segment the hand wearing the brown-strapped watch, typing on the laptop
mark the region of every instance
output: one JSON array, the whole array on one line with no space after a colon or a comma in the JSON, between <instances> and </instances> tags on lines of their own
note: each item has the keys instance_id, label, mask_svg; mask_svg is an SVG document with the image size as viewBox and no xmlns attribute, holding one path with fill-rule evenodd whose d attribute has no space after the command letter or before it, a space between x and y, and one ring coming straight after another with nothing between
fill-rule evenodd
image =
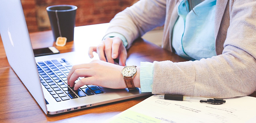
<instances>
[{"instance_id":1,"label":"hand wearing the brown-strapped watch, typing on the laptop","mask_svg":"<svg viewBox=\"0 0 256 123\"><path fill-rule=\"evenodd\" d=\"M103 62L100 60L93 60L88 64L79 64L74 65L72 69L69 71L69 75L67 76L68 85L70 87L74 87L74 90L77 90L79 87L83 85L97 85L101 87L107 87L112 89L125 89L126 84L123 80L123 76L121 71L123 66L119 66L116 64L111 64L108 62ZM137 69L135 87L140 87L139 84L139 76ZM76 84L75 81L78 77L85 77L79 80Z\"/></svg>"}]
</instances>

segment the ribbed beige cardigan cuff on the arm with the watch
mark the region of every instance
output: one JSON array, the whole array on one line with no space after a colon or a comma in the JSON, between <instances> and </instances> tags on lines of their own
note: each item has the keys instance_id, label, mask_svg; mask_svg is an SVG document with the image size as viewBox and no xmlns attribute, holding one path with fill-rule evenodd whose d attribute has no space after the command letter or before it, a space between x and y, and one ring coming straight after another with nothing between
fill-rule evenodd
<instances>
[{"instance_id":1,"label":"ribbed beige cardigan cuff on the arm with the watch","mask_svg":"<svg viewBox=\"0 0 256 123\"><path fill-rule=\"evenodd\" d=\"M154 62L153 94L182 94L192 96L195 73L192 61Z\"/></svg>"}]
</instances>

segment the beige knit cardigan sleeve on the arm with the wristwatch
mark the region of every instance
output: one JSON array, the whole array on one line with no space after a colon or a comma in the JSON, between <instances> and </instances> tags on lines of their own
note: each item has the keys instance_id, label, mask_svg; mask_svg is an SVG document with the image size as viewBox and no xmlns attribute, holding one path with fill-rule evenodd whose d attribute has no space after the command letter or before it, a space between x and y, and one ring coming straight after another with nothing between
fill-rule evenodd
<instances>
[{"instance_id":1,"label":"beige knit cardigan sleeve on the arm with the wristwatch","mask_svg":"<svg viewBox=\"0 0 256 123\"><path fill-rule=\"evenodd\" d=\"M256 91L256 2L236 0L221 55L199 61L154 62L152 93L232 98Z\"/></svg>"}]
</instances>

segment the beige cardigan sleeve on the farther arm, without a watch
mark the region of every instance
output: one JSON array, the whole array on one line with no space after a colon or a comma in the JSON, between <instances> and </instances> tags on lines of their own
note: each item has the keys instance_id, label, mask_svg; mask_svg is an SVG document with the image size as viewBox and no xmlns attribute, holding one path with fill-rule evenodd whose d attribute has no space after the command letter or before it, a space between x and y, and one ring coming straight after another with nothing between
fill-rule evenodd
<instances>
[{"instance_id":1,"label":"beige cardigan sleeve on the farther arm, without a watch","mask_svg":"<svg viewBox=\"0 0 256 123\"><path fill-rule=\"evenodd\" d=\"M122 34L129 48L131 43L155 27L164 25L166 0L140 0L126 8L110 21L106 34Z\"/></svg>"}]
</instances>

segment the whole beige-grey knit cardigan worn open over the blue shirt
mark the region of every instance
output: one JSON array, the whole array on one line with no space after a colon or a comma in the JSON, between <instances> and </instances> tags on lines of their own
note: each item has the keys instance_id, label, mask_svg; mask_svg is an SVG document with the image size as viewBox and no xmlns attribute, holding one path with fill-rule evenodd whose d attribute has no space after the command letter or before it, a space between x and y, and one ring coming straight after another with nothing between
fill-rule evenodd
<instances>
[{"instance_id":1,"label":"whole beige-grey knit cardigan worn open over the blue shirt","mask_svg":"<svg viewBox=\"0 0 256 123\"><path fill-rule=\"evenodd\" d=\"M164 25L162 48L173 50L171 34L178 19L178 0L140 0L117 14L107 34L118 32L132 42ZM154 62L152 93L231 98L256 91L256 2L217 0L217 56L199 61Z\"/></svg>"}]
</instances>

